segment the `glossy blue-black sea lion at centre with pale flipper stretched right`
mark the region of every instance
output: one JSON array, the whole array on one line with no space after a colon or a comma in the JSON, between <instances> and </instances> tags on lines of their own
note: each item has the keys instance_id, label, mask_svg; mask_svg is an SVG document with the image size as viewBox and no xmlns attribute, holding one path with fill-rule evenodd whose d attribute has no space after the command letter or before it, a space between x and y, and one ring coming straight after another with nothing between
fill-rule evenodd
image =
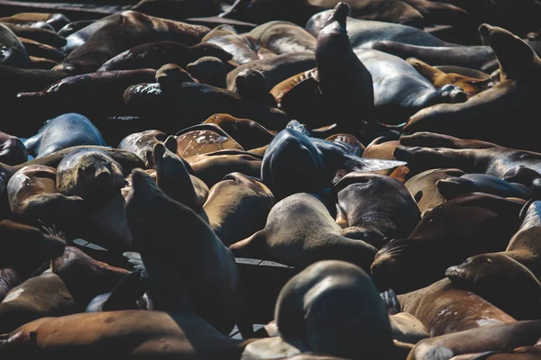
<instances>
[{"instance_id":1,"label":"glossy blue-black sea lion at centre with pale flipper stretched right","mask_svg":"<svg viewBox=\"0 0 541 360\"><path fill-rule=\"evenodd\" d=\"M295 124L298 121L291 121L288 126ZM283 199L292 193L328 193L339 169L375 171L399 165L404 163L357 157L335 142L284 129L265 151L261 180L277 199Z\"/></svg>"}]
</instances>

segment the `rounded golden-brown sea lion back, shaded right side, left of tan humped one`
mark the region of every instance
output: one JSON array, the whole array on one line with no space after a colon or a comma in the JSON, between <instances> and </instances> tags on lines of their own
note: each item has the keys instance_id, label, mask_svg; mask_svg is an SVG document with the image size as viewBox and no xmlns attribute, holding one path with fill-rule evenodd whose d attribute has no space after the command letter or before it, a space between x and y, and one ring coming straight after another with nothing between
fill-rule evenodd
<instances>
[{"instance_id":1,"label":"rounded golden-brown sea lion back, shaded right side, left of tan humped one","mask_svg":"<svg viewBox=\"0 0 541 360\"><path fill-rule=\"evenodd\" d=\"M232 173L210 189L203 210L216 236L229 247L262 229L273 205L274 196L267 186ZM240 223L244 226L238 226Z\"/></svg>"}]
</instances>

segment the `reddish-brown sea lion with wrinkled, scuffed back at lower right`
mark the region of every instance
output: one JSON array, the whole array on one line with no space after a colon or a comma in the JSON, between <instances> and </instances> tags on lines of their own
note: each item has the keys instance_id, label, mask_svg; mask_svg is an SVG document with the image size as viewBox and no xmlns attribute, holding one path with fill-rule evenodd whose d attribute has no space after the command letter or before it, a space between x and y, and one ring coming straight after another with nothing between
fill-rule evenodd
<instances>
[{"instance_id":1,"label":"reddish-brown sea lion with wrinkled, scuffed back at lower right","mask_svg":"<svg viewBox=\"0 0 541 360\"><path fill-rule=\"evenodd\" d=\"M516 321L480 296L455 289L449 279L398 298L402 311L420 320L432 338Z\"/></svg>"}]
</instances>

